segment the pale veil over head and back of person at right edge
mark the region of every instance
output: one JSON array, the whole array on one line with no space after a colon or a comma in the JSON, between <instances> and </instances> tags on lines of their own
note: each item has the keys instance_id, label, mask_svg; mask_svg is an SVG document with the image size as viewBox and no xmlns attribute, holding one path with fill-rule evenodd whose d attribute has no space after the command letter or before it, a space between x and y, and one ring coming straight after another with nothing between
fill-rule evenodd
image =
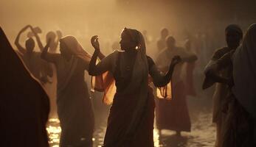
<instances>
[{"instance_id":1,"label":"pale veil over head and back of person at right edge","mask_svg":"<svg viewBox=\"0 0 256 147\"><path fill-rule=\"evenodd\" d=\"M242 46L234 54L232 92L242 106L256 118L256 24L249 26Z\"/></svg>"}]
</instances>

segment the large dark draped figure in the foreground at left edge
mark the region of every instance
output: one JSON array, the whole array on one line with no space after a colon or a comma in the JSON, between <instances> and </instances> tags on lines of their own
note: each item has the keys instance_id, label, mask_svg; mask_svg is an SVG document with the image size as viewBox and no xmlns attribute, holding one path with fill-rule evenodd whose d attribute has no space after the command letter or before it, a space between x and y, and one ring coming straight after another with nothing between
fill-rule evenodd
<instances>
[{"instance_id":1,"label":"large dark draped figure in the foreground at left edge","mask_svg":"<svg viewBox=\"0 0 256 147\"><path fill-rule=\"evenodd\" d=\"M47 147L49 99L0 28L1 146Z\"/></svg>"}]
</instances>

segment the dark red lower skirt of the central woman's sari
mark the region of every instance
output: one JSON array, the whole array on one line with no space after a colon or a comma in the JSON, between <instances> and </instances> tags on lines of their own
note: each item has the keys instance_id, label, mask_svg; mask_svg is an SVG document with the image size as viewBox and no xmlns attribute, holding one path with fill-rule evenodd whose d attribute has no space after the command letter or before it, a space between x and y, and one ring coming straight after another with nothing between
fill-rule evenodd
<instances>
[{"instance_id":1,"label":"dark red lower skirt of the central woman's sari","mask_svg":"<svg viewBox=\"0 0 256 147\"><path fill-rule=\"evenodd\" d=\"M114 96L108 116L108 127L105 133L104 147L153 147L153 119L155 101L153 90L148 87L148 101L145 110L140 118L139 125L134 130L134 134L129 136L125 134L127 127L131 123L132 114L136 107L139 93L131 95Z\"/></svg>"}]
</instances>

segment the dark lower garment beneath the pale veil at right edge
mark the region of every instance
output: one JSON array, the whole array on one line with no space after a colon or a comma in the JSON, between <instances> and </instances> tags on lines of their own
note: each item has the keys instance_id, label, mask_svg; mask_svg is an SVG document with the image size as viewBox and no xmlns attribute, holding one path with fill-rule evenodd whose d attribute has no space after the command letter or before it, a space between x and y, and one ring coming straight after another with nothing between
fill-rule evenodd
<instances>
[{"instance_id":1,"label":"dark lower garment beneath the pale veil at right edge","mask_svg":"<svg viewBox=\"0 0 256 147\"><path fill-rule=\"evenodd\" d=\"M254 121L252 116L242 107L231 93L226 97L229 99L228 110L222 125L221 147L251 147L253 145Z\"/></svg>"}]
</instances>

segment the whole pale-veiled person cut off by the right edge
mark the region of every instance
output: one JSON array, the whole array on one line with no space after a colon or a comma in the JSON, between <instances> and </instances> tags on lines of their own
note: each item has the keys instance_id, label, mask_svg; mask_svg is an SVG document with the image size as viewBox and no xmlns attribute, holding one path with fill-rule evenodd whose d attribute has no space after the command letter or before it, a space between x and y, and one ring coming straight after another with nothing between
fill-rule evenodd
<instances>
[{"instance_id":1,"label":"whole pale-veiled person cut off by the right edge","mask_svg":"<svg viewBox=\"0 0 256 147\"><path fill-rule=\"evenodd\" d=\"M256 24L249 26L232 57L234 99L228 112L223 146L256 146ZM235 133L235 135L233 134ZM228 139L226 139L228 138Z\"/></svg>"}]
</instances>

